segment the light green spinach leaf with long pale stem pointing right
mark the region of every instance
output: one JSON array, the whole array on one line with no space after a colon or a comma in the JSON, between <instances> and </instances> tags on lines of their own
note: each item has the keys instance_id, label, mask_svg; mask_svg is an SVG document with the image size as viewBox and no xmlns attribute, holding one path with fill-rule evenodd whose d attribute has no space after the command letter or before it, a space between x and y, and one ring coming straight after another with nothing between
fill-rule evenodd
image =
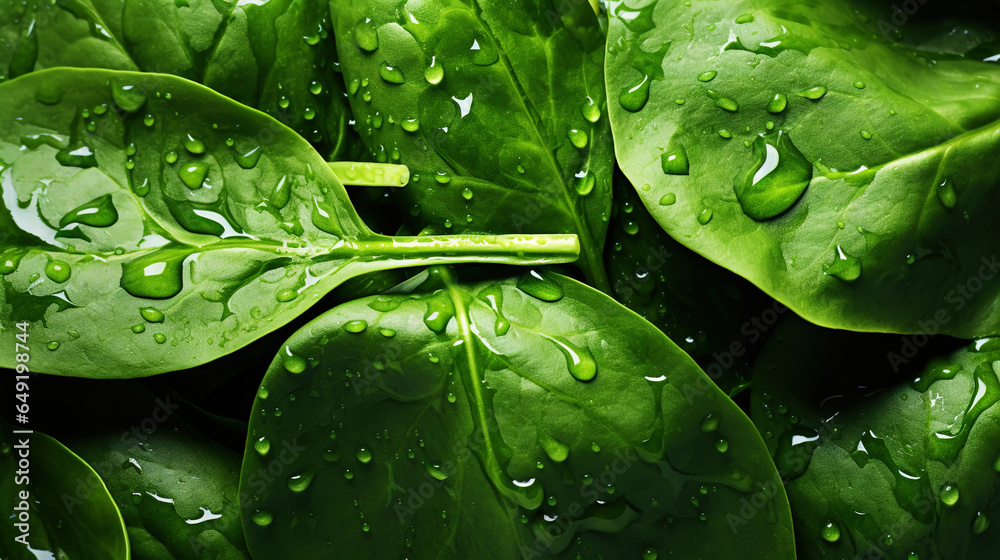
<instances>
[{"instance_id":1,"label":"light green spinach leaf with long pale stem pointing right","mask_svg":"<svg viewBox=\"0 0 1000 560\"><path fill-rule=\"evenodd\" d=\"M578 253L572 235L376 235L301 137L173 76L52 69L0 97L0 340L30 322L34 371L184 369L359 274Z\"/></svg>"}]
</instances>

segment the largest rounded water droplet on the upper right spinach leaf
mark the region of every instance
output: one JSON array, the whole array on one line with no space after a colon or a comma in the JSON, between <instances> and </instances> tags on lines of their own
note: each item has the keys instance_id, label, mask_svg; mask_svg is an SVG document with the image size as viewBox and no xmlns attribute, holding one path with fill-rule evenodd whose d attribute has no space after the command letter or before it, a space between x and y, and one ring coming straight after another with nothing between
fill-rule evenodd
<instances>
[{"instance_id":1,"label":"largest rounded water droplet on the upper right spinach leaf","mask_svg":"<svg viewBox=\"0 0 1000 560\"><path fill-rule=\"evenodd\" d=\"M734 180L743 213L757 221L786 212L802 197L812 180L812 164L784 132L758 136L754 163Z\"/></svg>"}]
</instances>

